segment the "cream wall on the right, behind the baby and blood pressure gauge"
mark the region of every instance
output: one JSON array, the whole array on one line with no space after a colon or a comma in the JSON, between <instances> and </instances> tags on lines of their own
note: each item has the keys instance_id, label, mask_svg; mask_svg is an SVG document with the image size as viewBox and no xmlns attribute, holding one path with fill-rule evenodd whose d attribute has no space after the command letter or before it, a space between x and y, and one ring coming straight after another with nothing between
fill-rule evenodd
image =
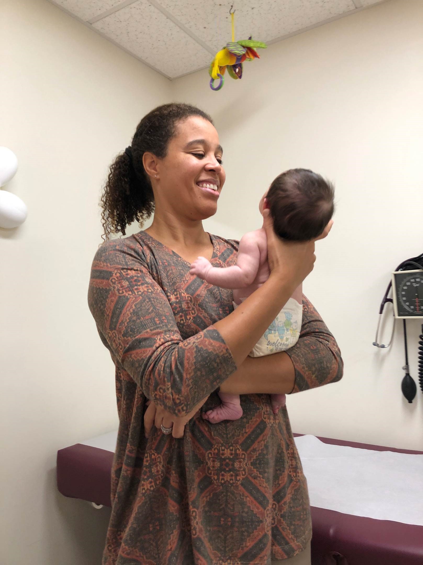
<instances>
[{"instance_id":1,"label":"cream wall on the right, behind the baby and blood pressure gauge","mask_svg":"<svg viewBox=\"0 0 423 565\"><path fill-rule=\"evenodd\" d=\"M176 99L214 117L224 147L209 231L259 227L259 197L287 168L336 184L334 228L305 292L341 346L345 376L288 398L296 432L423 449L423 396L410 405L400 390L401 323L391 351L372 346L390 271L423 251L422 24L421 0L393 0L261 50L219 92L206 71L174 83ZM408 323L415 381L420 332Z\"/></svg>"}]
</instances>

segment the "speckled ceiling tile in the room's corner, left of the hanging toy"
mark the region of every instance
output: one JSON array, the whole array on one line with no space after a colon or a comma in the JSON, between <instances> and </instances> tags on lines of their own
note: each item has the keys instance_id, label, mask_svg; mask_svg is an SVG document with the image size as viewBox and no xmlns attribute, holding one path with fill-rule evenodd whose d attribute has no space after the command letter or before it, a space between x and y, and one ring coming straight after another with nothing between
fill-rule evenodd
<instances>
[{"instance_id":1,"label":"speckled ceiling tile in the room's corner, left of the hanging toy","mask_svg":"<svg viewBox=\"0 0 423 565\"><path fill-rule=\"evenodd\" d=\"M208 66L213 59L147 0L139 0L92 25L170 78Z\"/></svg>"}]
</instances>

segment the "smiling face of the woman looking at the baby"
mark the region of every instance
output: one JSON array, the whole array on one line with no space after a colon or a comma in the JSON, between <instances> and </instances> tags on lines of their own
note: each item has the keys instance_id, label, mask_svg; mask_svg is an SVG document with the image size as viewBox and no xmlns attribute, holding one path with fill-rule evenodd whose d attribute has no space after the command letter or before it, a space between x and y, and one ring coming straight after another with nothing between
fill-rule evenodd
<instances>
[{"instance_id":1,"label":"smiling face of the woman looking at the baby","mask_svg":"<svg viewBox=\"0 0 423 565\"><path fill-rule=\"evenodd\" d=\"M156 208L191 220L213 216L225 181L219 136L208 120L191 116L177 124L166 157L157 160Z\"/></svg>"}]
</instances>

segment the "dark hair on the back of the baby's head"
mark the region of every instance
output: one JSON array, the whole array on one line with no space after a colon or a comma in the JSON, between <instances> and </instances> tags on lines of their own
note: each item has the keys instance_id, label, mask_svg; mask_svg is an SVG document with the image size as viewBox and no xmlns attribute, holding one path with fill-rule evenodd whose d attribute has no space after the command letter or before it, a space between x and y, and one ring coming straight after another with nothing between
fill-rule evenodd
<instances>
[{"instance_id":1,"label":"dark hair on the back of the baby's head","mask_svg":"<svg viewBox=\"0 0 423 565\"><path fill-rule=\"evenodd\" d=\"M270 185L266 200L275 233L290 241L308 241L323 233L334 212L331 182L309 169L285 171Z\"/></svg>"}]
</instances>

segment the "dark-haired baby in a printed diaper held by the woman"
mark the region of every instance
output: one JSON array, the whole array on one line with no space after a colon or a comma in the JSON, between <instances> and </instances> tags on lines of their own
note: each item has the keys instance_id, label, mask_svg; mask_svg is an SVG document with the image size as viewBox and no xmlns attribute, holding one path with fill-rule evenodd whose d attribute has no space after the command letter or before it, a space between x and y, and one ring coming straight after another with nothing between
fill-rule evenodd
<instances>
[{"instance_id":1,"label":"dark-haired baby in a printed diaper held by the woman","mask_svg":"<svg viewBox=\"0 0 423 565\"><path fill-rule=\"evenodd\" d=\"M319 237L334 212L334 189L330 182L309 169L290 169L276 177L259 202L260 213L270 208L277 236L290 241ZM204 257L191 264L190 273L215 286L233 289L236 308L261 286L270 275L267 263L265 228L246 233L239 243L236 266L212 267ZM260 338L250 357L285 351L298 341L302 320L302 285L294 291L283 309ZM215 424L236 420L243 415L237 394L219 392L222 404L203 414ZM285 406L285 394L271 394L272 411Z\"/></svg>"}]
</instances>

